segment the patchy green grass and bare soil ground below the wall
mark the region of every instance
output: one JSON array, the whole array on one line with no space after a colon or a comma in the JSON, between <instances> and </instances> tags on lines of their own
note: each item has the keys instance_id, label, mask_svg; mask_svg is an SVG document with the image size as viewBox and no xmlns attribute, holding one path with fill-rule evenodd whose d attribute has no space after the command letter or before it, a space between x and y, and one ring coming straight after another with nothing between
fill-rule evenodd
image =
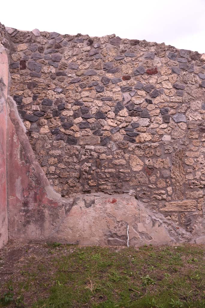
<instances>
[{"instance_id":1,"label":"patchy green grass and bare soil ground below the wall","mask_svg":"<svg viewBox=\"0 0 205 308\"><path fill-rule=\"evenodd\" d=\"M10 265L14 274L0 282L0 305L205 308L204 248L27 245L21 248L19 260ZM2 251L6 252L6 248ZM0 256L6 266L2 251ZM6 296L10 298L7 302Z\"/></svg>"}]
</instances>

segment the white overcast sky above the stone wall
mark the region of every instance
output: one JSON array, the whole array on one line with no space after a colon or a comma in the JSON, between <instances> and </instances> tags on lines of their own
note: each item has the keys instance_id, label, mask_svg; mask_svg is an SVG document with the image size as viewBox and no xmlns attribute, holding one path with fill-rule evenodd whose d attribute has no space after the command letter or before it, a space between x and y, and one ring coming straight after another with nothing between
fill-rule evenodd
<instances>
[{"instance_id":1,"label":"white overcast sky above the stone wall","mask_svg":"<svg viewBox=\"0 0 205 308\"><path fill-rule=\"evenodd\" d=\"M2 0L0 22L19 30L164 42L205 53L205 0Z\"/></svg>"}]
</instances>

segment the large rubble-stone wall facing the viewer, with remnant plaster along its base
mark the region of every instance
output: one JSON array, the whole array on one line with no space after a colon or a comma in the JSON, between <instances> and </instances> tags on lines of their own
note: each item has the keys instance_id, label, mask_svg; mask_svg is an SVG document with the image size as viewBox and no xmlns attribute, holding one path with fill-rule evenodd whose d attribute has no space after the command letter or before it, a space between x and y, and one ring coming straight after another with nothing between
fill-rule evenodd
<instances>
[{"instance_id":1,"label":"large rubble-stone wall facing the viewer, with remnant plaster along its base","mask_svg":"<svg viewBox=\"0 0 205 308\"><path fill-rule=\"evenodd\" d=\"M125 245L129 222L133 245L204 241L205 55L6 30L10 238Z\"/></svg>"}]
</instances>

